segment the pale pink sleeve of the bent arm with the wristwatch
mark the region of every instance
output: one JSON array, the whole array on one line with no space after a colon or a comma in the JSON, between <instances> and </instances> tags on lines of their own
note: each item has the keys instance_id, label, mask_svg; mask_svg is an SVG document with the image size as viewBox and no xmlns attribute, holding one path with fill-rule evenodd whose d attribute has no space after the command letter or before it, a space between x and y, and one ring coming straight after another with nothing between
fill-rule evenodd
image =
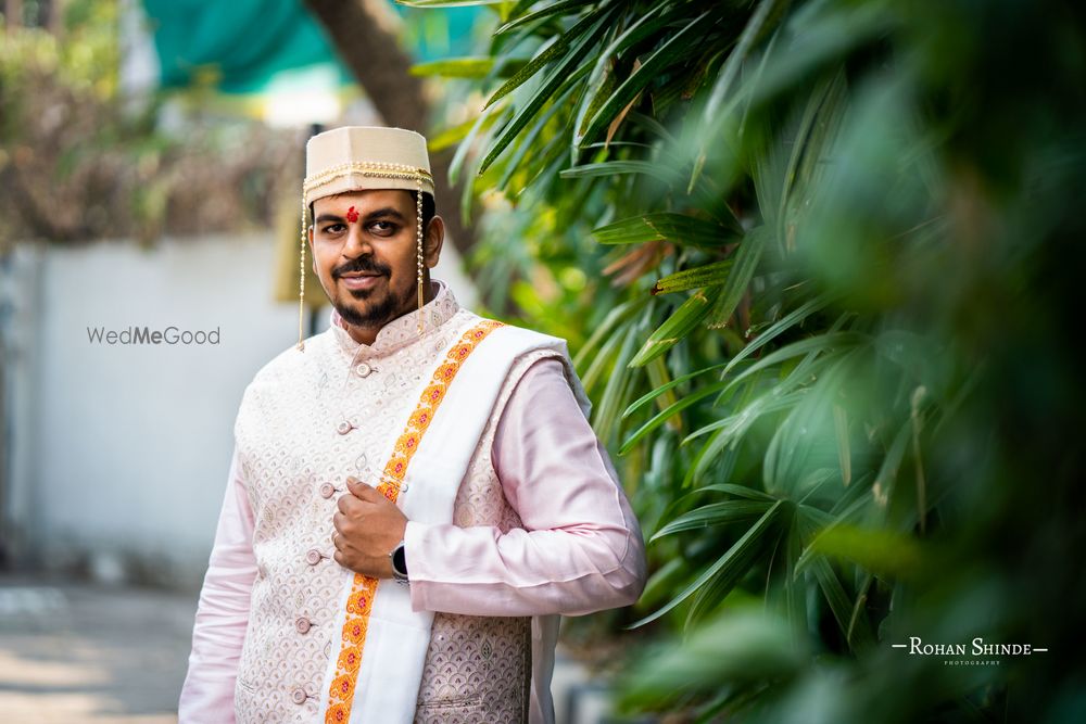
<instances>
[{"instance_id":1,"label":"pale pink sleeve of the bent arm with the wristwatch","mask_svg":"<svg viewBox=\"0 0 1086 724\"><path fill-rule=\"evenodd\" d=\"M408 522L413 608L576 615L635 601L645 585L641 530L559 359L534 363L517 382L492 455L525 529Z\"/></svg>"}]
</instances>

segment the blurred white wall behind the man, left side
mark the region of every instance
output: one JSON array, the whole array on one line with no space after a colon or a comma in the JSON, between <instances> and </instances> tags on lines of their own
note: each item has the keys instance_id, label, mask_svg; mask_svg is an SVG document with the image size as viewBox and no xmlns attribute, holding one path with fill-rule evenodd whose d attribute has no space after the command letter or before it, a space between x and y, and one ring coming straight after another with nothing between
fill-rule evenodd
<instances>
[{"instance_id":1,"label":"blurred white wall behind the man, left side","mask_svg":"<svg viewBox=\"0 0 1086 724\"><path fill-rule=\"evenodd\" d=\"M475 294L451 244L434 276ZM245 385L296 340L269 237L17 251L3 279L12 459L2 537L101 579L203 575ZM327 307L321 314L327 326ZM218 328L218 345L109 345L88 327Z\"/></svg>"}]
</instances>

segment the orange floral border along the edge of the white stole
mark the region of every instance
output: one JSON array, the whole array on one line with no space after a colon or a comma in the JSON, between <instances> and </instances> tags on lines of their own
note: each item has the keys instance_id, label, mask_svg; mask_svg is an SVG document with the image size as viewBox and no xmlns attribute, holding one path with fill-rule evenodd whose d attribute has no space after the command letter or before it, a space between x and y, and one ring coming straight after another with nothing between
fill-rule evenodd
<instances>
[{"instance_id":1,"label":"orange floral border along the edge of the white stole","mask_svg":"<svg viewBox=\"0 0 1086 724\"><path fill-rule=\"evenodd\" d=\"M459 342L453 345L445 360L433 372L433 379L422 391L422 395L407 419L407 427L396 440L392 457L384 466L384 474L377 490L393 503L400 496L400 485L407 472L419 441L430 427L438 406L445 398L445 392L460 365L468 358L476 346L503 322L487 319L464 333ZM345 724L351 719L351 706L354 701L354 687L358 679L358 669L362 665L363 646L366 643L366 630L369 624L369 613L374 607L374 596L377 595L378 579L354 574L351 594L346 599L346 621L343 624L343 638L339 658L336 662L336 675L328 690L327 724Z\"/></svg>"}]
</instances>

